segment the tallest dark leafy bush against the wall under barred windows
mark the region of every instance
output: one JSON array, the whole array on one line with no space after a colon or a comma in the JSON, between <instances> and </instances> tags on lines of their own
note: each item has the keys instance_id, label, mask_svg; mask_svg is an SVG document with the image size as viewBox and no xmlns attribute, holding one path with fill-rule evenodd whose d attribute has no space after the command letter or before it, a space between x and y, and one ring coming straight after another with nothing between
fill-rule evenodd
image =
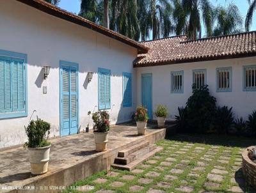
<instances>
[{"instance_id":1,"label":"tallest dark leafy bush against the wall under barred windows","mask_svg":"<svg viewBox=\"0 0 256 193\"><path fill-rule=\"evenodd\" d=\"M214 120L216 98L211 96L207 85L195 89L186 103L186 130L188 132L205 133ZM189 127L189 128L188 128Z\"/></svg>"}]
</instances>

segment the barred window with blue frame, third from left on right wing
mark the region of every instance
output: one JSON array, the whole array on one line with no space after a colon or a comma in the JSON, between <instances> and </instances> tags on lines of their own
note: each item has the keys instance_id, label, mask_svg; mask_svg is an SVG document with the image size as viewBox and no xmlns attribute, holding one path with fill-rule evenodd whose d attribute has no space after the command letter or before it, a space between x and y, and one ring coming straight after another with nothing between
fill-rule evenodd
<instances>
[{"instance_id":1,"label":"barred window with blue frame, third from left on right wing","mask_svg":"<svg viewBox=\"0 0 256 193\"><path fill-rule=\"evenodd\" d=\"M218 92L232 91L232 67L216 69L216 87Z\"/></svg>"}]
</instances>

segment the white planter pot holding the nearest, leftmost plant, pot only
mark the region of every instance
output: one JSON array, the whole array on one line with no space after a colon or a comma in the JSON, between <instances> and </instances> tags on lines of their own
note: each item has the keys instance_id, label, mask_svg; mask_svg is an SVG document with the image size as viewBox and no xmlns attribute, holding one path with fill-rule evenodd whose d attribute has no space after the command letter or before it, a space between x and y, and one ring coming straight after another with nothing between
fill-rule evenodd
<instances>
[{"instance_id":1,"label":"white planter pot holding the nearest, leftmost plant, pot only","mask_svg":"<svg viewBox=\"0 0 256 193\"><path fill-rule=\"evenodd\" d=\"M31 173L35 175L47 173L51 145L43 148L28 148Z\"/></svg>"}]
</instances>

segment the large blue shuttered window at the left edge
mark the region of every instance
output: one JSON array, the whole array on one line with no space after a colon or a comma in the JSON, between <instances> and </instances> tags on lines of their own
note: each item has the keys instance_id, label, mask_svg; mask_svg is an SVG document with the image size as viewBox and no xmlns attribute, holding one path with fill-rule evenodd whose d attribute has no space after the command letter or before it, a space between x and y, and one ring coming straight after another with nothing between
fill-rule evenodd
<instances>
[{"instance_id":1,"label":"large blue shuttered window at the left edge","mask_svg":"<svg viewBox=\"0 0 256 193\"><path fill-rule=\"evenodd\" d=\"M0 50L0 118L27 116L26 58Z\"/></svg>"}]
</instances>

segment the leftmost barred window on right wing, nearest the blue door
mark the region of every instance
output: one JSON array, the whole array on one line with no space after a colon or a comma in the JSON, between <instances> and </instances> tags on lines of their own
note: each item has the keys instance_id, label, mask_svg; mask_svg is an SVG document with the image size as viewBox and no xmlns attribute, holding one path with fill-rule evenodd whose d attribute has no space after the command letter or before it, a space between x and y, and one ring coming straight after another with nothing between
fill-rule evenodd
<instances>
[{"instance_id":1,"label":"leftmost barred window on right wing, nearest the blue door","mask_svg":"<svg viewBox=\"0 0 256 193\"><path fill-rule=\"evenodd\" d=\"M171 93L183 93L183 74L183 70L171 72Z\"/></svg>"}]
</instances>

